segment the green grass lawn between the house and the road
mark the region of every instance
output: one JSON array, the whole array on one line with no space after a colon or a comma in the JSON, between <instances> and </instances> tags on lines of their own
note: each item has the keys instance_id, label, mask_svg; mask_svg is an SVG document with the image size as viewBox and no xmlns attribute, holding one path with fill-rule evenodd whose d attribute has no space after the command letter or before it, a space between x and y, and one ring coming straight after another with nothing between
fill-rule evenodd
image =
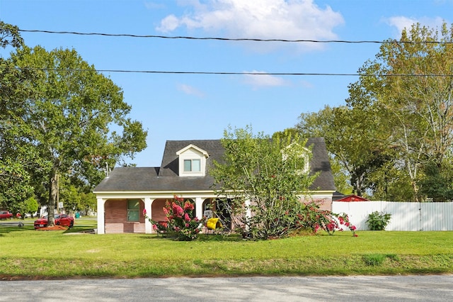
<instances>
[{"instance_id":1,"label":"green grass lawn between the house and the road","mask_svg":"<svg viewBox=\"0 0 453 302\"><path fill-rule=\"evenodd\" d=\"M32 220L33 223L33 220ZM244 275L452 274L453 232L361 231L333 236L244 241L201 235L178 242L149 234L81 233L93 218L67 231L0 226L0 277L166 277Z\"/></svg>"}]
</instances>

